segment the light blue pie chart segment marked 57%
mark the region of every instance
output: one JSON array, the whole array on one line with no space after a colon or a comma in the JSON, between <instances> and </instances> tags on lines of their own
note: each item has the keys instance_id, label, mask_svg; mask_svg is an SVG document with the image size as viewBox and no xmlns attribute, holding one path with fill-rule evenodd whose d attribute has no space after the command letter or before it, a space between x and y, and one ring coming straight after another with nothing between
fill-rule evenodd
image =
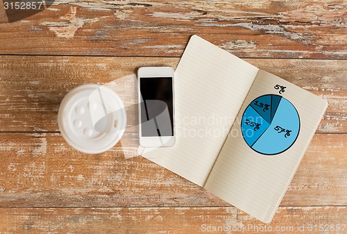
<instances>
[{"instance_id":1,"label":"light blue pie chart segment marked 57%","mask_svg":"<svg viewBox=\"0 0 347 234\"><path fill-rule=\"evenodd\" d=\"M291 131L285 137L286 132L278 133L276 126ZM287 150L295 142L300 128L298 112L287 99L280 99L280 104L273 116L271 125L264 134L253 144L255 151L264 154L276 154Z\"/></svg>"}]
</instances>

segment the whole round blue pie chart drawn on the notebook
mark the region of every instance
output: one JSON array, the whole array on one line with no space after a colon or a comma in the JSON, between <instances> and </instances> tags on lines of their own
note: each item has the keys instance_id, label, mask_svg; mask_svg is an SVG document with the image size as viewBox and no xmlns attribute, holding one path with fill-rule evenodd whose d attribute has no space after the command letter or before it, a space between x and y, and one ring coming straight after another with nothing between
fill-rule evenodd
<instances>
[{"instance_id":1,"label":"whole round blue pie chart drawn on the notebook","mask_svg":"<svg viewBox=\"0 0 347 234\"><path fill-rule=\"evenodd\" d=\"M298 111L276 94L257 97L242 115L242 136L257 153L276 155L289 149L300 131Z\"/></svg>"}]
</instances>

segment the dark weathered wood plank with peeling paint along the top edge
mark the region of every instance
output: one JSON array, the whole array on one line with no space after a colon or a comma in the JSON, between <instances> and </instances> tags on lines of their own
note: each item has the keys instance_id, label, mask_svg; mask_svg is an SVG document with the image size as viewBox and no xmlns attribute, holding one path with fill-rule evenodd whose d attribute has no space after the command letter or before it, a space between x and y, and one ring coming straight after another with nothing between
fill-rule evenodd
<instances>
[{"instance_id":1,"label":"dark weathered wood plank with peeling paint along the top edge","mask_svg":"<svg viewBox=\"0 0 347 234\"><path fill-rule=\"evenodd\" d=\"M0 24L0 54L180 56L197 33L237 56L347 58L346 12L342 0L58 0Z\"/></svg>"}]
</instances>

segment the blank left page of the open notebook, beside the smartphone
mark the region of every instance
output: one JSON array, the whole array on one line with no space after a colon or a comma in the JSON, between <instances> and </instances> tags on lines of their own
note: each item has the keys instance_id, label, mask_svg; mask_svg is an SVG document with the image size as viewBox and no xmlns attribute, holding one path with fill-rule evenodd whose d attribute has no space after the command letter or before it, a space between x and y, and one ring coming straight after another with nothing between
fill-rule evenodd
<instances>
[{"instance_id":1,"label":"blank left page of the open notebook, beside the smartphone","mask_svg":"<svg viewBox=\"0 0 347 234\"><path fill-rule=\"evenodd\" d=\"M258 71L193 35L174 78L176 144L142 156L202 186Z\"/></svg>"}]
</instances>

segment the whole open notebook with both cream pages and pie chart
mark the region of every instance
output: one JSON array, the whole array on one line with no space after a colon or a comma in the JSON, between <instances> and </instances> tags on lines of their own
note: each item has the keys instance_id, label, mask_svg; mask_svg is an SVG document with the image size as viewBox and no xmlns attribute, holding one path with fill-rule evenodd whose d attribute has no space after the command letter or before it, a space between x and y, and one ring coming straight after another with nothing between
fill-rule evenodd
<instances>
[{"instance_id":1,"label":"whole open notebook with both cream pages and pie chart","mask_svg":"<svg viewBox=\"0 0 347 234\"><path fill-rule=\"evenodd\" d=\"M271 222L327 102L196 35L175 98L176 144L142 156Z\"/></svg>"}]
</instances>

